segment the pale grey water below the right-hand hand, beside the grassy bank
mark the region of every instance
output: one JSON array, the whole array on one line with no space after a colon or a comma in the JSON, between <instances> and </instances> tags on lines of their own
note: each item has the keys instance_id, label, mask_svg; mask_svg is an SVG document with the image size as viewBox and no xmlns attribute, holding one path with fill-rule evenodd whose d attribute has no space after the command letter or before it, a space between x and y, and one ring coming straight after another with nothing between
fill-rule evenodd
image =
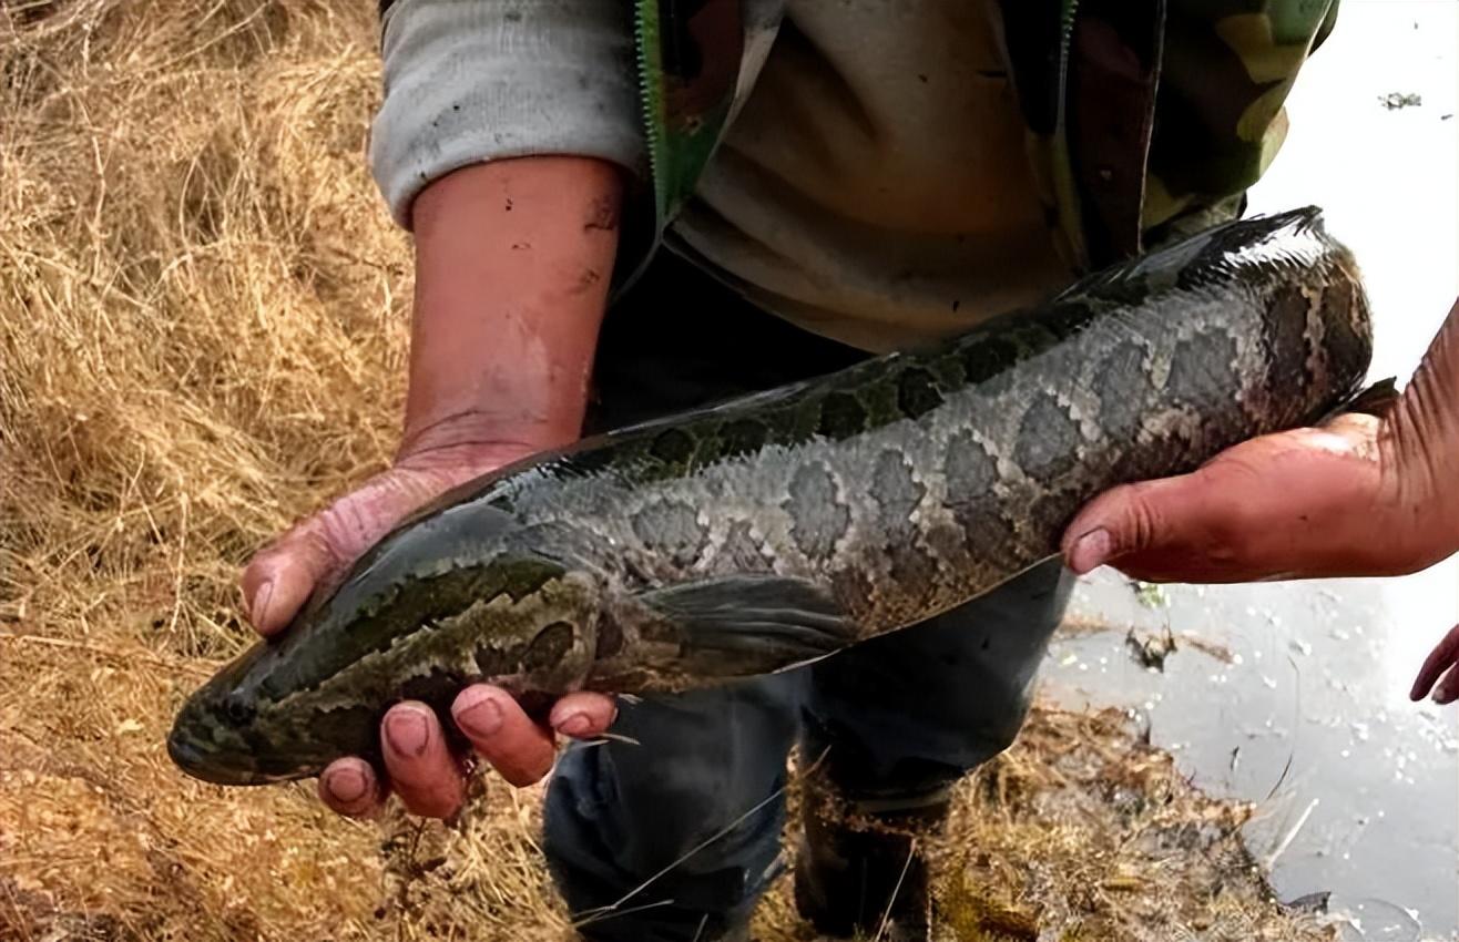
<instances>
[{"instance_id":1,"label":"pale grey water below the right-hand hand, beside the grassy bank","mask_svg":"<svg viewBox=\"0 0 1459 942\"><path fill-rule=\"evenodd\" d=\"M1164 586L1154 607L1100 573L1075 611L1119 627L1056 642L1045 682L1065 706L1129 707L1196 786L1258 802L1247 846L1282 900L1331 892L1364 917L1354 939L1455 939L1459 710L1406 691L1436 626L1459 621L1456 569ZM1172 631L1163 672L1132 656L1131 626Z\"/></svg>"}]
</instances>

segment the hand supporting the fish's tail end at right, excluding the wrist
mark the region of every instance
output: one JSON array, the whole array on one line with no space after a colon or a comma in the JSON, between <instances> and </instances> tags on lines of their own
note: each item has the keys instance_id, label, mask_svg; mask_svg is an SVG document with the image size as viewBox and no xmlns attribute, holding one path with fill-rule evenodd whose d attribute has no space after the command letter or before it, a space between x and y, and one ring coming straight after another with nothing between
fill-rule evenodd
<instances>
[{"instance_id":1,"label":"hand supporting the fish's tail end at right, excluding the wrist","mask_svg":"<svg viewBox=\"0 0 1459 942\"><path fill-rule=\"evenodd\" d=\"M1109 564L1145 582L1261 582L1415 572L1443 558L1377 445L1379 420L1341 416L1269 435L1199 470L1112 488L1065 531L1084 575Z\"/></svg>"}]
</instances>

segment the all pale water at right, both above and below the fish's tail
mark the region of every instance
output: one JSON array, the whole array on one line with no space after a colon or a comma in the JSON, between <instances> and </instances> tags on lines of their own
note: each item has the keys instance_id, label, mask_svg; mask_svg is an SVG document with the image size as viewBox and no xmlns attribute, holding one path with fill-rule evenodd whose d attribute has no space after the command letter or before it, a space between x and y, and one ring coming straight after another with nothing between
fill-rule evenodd
<instances>
[{"instance_id":1,"label":"all pale water at right, both above and below the fish's tail","mask_svg":"<svg viewBox=\"0 0 1459 942\"><path fill-rule=\"evenodd\" d=\"M1459 296L1459 4L1341 9L1293 92L1290 136L1252 210L1325 209L1369 284L1371 378L1406 382ZM1390 93L1421 104L1388 108ZM1046 691L1067 706L1129 707L1198 786L1258 802L1246 838L1272 860L1275 890L1288 901L1331 892L1347 938L1459 939L1459 704L1408 700L1428 649L1459 621L1459 557L1402 579L1163 595L1141 601L1107 570L1087 579L1075 614L1116 627L1059 640ZM1129 626L1172 628L1164 672L1131 656Z\"/></svg>"}]
</instances>

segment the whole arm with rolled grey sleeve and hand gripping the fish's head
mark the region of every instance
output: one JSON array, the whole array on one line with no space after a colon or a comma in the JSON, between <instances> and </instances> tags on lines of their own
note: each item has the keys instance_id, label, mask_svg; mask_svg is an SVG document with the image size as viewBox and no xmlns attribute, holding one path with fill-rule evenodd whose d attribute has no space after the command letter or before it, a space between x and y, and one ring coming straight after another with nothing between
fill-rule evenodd
<instances>
[{"instance_id":1,"label":"whole arm with rolled grey sleeve and hand gripping the fish's head","mask_svg":"<svg viewBox=\"0 0 1459 942\"><path fill-rule=\"evenodd\" d=\"M629 4L387 6L369 156L391 216L416 236L404 432L391 470L249 563L245 598L266 634L414 507L578 437L623 184L645 163ZM550 768L554 732L603 732L613 701L565 697L549 728L505 691L474 685L452 719L508 782L527 785ZM384 770L347 758L324 771L331 808L371 814L382 771L416 814L460 806L458 760L432 710L391 709L381 745Z\"/></svg>"}]
</instances>

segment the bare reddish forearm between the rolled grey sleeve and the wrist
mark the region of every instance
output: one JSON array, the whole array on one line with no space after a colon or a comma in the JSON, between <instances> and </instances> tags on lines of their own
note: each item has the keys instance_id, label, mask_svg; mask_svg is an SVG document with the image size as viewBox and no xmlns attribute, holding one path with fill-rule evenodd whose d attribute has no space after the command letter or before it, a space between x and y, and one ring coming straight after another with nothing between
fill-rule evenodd
<instances>
[{"instance_id":1,"label":"bare reddish forearm between the rolled grey sleeve and the wrist","mask_svg":"<svg viewBox=\"0 0 1459 942\"><path fill-rule=\"evenodd\" d=\"M416 197L401 454L578 436L620 200L614 165L547 156L468 166Z\"/></svg>"}]
</instances>

